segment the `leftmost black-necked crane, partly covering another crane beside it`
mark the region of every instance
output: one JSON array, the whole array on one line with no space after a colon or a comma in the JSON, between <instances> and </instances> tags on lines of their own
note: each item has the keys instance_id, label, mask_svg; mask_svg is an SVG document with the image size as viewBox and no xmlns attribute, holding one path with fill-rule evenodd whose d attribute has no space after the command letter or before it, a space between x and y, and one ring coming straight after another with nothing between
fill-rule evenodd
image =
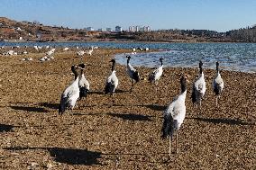
<instances>
[{"instance_id":1,"label":"leftmost black-necked crane, partly covering another crane beside it","mask_svg":"<svg viewBox=\"0 0 256 170\"><path fill-rule=\"evenodd\" d=\"M61 94L59 102L59 115L62 115L67 109L73 110L79 97L79 77L77 66L71 67L72 72L75 74L75 81L69 85L64 92Z\"/></svg>"}]
</instances>

